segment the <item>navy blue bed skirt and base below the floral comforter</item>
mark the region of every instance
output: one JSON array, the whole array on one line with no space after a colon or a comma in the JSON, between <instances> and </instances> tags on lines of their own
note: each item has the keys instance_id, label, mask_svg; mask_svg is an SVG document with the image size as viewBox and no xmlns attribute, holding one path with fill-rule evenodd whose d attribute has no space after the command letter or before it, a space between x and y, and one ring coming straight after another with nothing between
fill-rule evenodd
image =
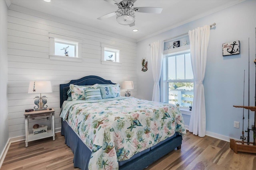
<instances>
[{"instance_id":1,"label":"navy blue bed skirt and base below the floral comforter","mask_svg":"<svg viewBox=\"0 0 256 170\"><path fill-rule=\"evenodd\" d=\"M74 167L88 170L91 151L83 141L72 130L66 121L62 121L61 135L65 136L65 143L74 153ZM182 136L175 133L174 136L158 143L157 145L135 154L129 160L119 163L119 170L143 170L162 156L168 154L175 148L180 148Z\"/></svg>"}]
</instances>

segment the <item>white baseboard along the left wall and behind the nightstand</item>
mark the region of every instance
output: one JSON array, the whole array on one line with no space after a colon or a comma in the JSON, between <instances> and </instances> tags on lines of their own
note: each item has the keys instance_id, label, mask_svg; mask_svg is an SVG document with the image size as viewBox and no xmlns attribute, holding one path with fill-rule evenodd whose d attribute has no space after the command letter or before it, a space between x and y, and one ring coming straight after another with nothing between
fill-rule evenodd
<instances>
[{"instance_id":1,"label":"white baseboard along the left wall and behind the nightstand","mask_svg":"<svg viewBox=\"0 0 256 170\"><path fill-rule=\"evenodd\" d=\"M55 129L55 133L58 133L60 131L61 131L61 127ZM19 136L19 137L13 137L13 138L9 138L8 139L6 145L4 146L4 150L3 150L3 152L0 155L0 169L1 169L1 166L2 166L2 164L4 162L4 158L5 158L8 150L9 150L9 147L10 147L11 143L18 142L18 141L23 141L25 139L26 139L26 136ZM24 145L24 147L25 147L25 145Z\"/></svg>"}]
</instances>

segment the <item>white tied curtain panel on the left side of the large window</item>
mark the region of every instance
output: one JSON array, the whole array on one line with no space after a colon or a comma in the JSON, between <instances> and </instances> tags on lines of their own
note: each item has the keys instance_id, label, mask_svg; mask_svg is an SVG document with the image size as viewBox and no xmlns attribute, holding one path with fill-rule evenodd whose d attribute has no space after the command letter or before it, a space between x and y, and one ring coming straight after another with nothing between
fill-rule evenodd
<instances>
[{"instance_id":1,"label":"white tied curtain panel on the left side of the large window","mask_svg":"<svg viewBox=\"0 0 256 170\"><path fill-rule=\"evenodd\" d=\"M151 43L151 59L152 59L152 72L154 79L154 89L152 101L160 102L160 87L159 80L162 70L162 60L164 52L164 41L156 41Z\"/></svg>"}]
</instances>

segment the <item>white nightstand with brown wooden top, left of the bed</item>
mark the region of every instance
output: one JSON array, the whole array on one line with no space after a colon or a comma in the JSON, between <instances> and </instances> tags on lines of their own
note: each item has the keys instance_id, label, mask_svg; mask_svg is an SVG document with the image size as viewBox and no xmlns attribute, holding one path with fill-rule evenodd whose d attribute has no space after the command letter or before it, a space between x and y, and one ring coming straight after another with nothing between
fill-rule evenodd
<instances>
[{"instance_id":1,"label":"white nightstand with brown wooden top, left of the bed","mask_svg":"<svg viewBox=\"0 0 256 170\"><path fill-rule=\"evenodd\" d=\"M43 139L46 137L52 137L53 141L55 141L55 132L54 132L54 112L55 110L52 108L50 109L46 109L46 110L40 110L40 111L30 111L30 112L25 112L24 116L25 116L25 131L26 131L26 147L28 147L28 142L30 141L35 141L38 139ZM36 132L36 133L31 133L29 134L28 131L28 119L32 119L32 118L38 118L38 117L51 117L51 129L47 129L45 131L45 129L42 129L42 127L38 128L40 130L42 130L42 133L40 133L40 131ZM34 129L33 129L34 130Z\"/></svg>"}]
</instances>

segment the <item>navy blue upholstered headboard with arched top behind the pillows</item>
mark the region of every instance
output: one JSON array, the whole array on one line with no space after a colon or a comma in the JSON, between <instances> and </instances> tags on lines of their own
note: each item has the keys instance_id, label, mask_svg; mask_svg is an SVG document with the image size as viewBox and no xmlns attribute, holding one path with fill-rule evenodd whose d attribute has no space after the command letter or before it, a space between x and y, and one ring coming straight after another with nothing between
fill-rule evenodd
<instances>
[{"instance_id":1,"label":"navy blue upholstered headboard with arched top behind the pillows","mask_svg":"<svg viewBox=\"0 0 256 170\"><path fill-rule=\"evenodd\" d=\"M110 80L105 80L104 78L101 78L99 76L85 76L78 80L71 80L67 84L60 84L60 107L62 106L63 102L68 99L67 92L69 90L70 84L84 86L84 85L94 85L97 83L98 84L115 84Z\"/></svg>"}]
</instances>

